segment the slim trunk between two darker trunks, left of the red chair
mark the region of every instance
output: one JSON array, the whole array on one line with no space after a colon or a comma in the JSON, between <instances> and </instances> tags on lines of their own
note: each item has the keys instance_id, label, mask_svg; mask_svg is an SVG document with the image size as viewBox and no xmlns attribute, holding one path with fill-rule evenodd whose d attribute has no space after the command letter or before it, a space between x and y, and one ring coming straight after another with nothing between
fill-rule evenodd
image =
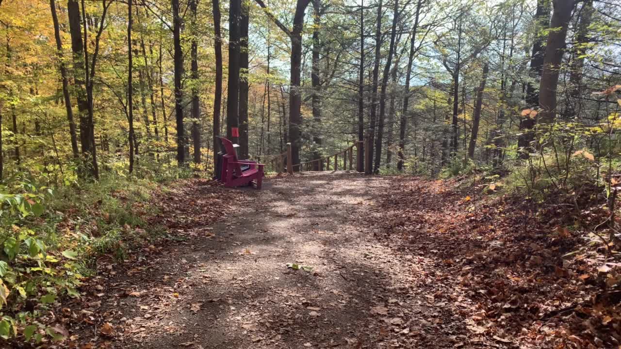
<instances>
[{"instance_id":1,"label":"slim trunk between two darker trunks, left of the red chair","mask_svg":"<svg viewBox=\"0 0 621 349\"><path fill-rule=\"evenodd\" d=\"M197 43L197 9L198 9L198 0L190 1L190 11L193 21L193 33L192 33L192 48L191 48L191 57L192 57L192 140L194 143L194 163L201 163L201 124L199 120L201 119L201 104L199 102L198 97L198 84L199 84L199 76L198 76L198 43Z\"/></svg>"}]
</instances>

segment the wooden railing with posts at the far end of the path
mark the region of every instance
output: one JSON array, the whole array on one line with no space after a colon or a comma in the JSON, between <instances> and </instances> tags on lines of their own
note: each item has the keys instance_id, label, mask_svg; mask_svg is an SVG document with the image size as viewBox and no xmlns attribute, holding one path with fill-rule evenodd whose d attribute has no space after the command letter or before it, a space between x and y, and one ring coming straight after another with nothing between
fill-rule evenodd
<instances>
[{"instance_id":1,"label":"wooden railing with posts at the far end of the path","mask_svg":"<svg viewBox=\"0 0 621 349\"><path fill-rule=\"evenodd\" d=\"M368 142L365 140L365 142ZM363 152L363 143L362 141L357 141L350 145L350 147L341 150L338 153L334 153L330 156L325 156L323 158L306 161L303 163L291 163L291 143L287 143L287 151L280 153L271 160L266 160L266 164L272 170L278 173L293 173L293 171L337 171L337 170L353 170L356 168L358 170L358 161L361 161L361 156ZM354 156L354 148L356 155ZM354 158L356 158L356 164L354 164ZM341 160L341 161L339 161ZM368 161L364 161L367 163ZM332 166L331 166L332 165ZM366 168L365 168L366 170Z\"/></svg>"}]
</instances>

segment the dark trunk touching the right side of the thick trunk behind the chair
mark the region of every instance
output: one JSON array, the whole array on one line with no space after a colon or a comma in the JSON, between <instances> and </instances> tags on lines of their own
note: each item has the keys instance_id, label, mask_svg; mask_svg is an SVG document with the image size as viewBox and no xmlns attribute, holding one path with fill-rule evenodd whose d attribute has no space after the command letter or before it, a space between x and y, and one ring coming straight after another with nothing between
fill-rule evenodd
<instances>
[{"instance_id":1,"label":"dark trunk touching the right side of the thick trunk behind the chair","mask_svg":"<svg viewBox=\"0 0 621 349\"><path fill-rule=\"evenodd\" d=\"M240 158L248 158L248 22L250 7L248 1L242 1L240 17L240 48L239 48L239 145Z\"/></svg>"}]
</instances>

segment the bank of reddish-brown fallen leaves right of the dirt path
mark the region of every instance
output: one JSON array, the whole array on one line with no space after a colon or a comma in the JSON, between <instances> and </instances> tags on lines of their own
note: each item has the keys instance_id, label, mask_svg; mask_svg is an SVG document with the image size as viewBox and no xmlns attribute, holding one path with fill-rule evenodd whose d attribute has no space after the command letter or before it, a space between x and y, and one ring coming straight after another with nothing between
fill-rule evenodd
<instances>
[{"instance_id":1,"label":"bank of reddish-brown fallen leaves right of the dirt path","mask_svg":"<svg viewBox=\"0 0 621 349\"><path fill-rule=\"evenodd\" d=\"M573 215L563 204L476 197L457 181L394 180L369 221L425 265L412 269L414 283L461 319L454 347L619 348L621 265L586 228L567 229L604 221L601 208Z\"/></svg>"}]
</instances>

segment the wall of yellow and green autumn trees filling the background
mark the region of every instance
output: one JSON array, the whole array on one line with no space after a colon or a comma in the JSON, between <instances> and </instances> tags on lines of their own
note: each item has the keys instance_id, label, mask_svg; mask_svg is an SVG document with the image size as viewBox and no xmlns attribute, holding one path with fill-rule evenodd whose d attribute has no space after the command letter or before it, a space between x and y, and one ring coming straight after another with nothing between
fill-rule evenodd
<instances>
[{"instance_id":1,"label":"wall of yellow and green autumn trees filling the background","mask_svg":"<svg viewBox=\"0 0 621 349\"><path fill-rule=\"evenodd\" d=\"M537 120L605 151L619 106L614 2L0 6L4 177L210 170L233 128L243 158L291 142L296 164L368 137L375 173L507 168L539 148Z\"/></svg>"}]
</instances>

